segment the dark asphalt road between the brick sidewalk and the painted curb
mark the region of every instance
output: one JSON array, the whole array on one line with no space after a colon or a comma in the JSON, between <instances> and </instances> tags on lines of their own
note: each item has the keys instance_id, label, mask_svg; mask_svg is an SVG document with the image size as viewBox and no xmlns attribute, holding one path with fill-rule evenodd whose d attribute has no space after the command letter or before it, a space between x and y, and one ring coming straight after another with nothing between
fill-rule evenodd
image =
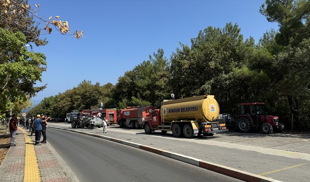
<instances>
[{"instance_id":1,"label":"dark asphalt road between the brick sidewalk and the painted curb","mask_svg":"<svg viewBox=\"0 0 310 182\"><path fill-rule=\"evenodd\" d=\"M144 150L49 128L47 140L81 182L234 182L236 179Z\"/></svg>"}]
</instances>

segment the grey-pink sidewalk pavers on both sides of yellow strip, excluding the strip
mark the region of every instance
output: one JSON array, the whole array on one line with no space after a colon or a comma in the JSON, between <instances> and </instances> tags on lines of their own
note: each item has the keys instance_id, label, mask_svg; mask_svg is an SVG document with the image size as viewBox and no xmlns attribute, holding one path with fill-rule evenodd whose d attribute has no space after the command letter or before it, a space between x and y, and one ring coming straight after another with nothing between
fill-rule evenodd
<instances>
[{"instance_id":1,"label":"grey-pink sidewalk pavers on both sides of yellow strip, excluding the strip","mask_svg":"<svg viewBox=\"0 0 310 182\"><path fill-rule=\"evenodd\" d=\"M30 132L27 132L30 135ZM32 141L35 140L31 136ZM42 139L42 137L41 137ZM25 146L33 145L26 143L24 133L16 132L16 146L11 147L0 166L0 182L23 182L25 168ZM64 163L58 153L48 143L34 146L35 155L40 171L41 182L78 182L74 172Z\"/></svg>"}]
</instances>

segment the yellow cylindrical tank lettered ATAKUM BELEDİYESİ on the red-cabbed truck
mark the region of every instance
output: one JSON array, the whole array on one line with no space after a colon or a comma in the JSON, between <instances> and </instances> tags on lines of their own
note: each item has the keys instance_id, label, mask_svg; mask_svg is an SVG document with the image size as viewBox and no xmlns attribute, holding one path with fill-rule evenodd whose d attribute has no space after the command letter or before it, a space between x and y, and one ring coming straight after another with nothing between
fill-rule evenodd
<instances>
[{"instance_id":1,"label":"yellow cylindrical tank lettered ATAKUM BELED\u0130YES\u0130 on the red-cabbed truck","mask_svg":"<svg viewBox=\"0 0 310 182\"><path fill-rule=\"evenodd\" d=\"M161 106L161 117L165 122L180 120L213 122L218 115L217 100L209 95L163 101Z\"/></svg>"}]
</instances>

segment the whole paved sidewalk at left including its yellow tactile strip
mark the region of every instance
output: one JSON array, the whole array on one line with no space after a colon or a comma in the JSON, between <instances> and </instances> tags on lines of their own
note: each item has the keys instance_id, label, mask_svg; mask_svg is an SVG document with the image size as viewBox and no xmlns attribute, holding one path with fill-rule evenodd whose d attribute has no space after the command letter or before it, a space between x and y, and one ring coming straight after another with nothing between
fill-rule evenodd
<instances>
[{"instance_id":1,"label":"whole paved sidewalk at left including its yellow tactile strip","mask_svg":"<svg viewBox=\"0 0 310 182\"><path fill-rule=\"evenodd\" d=\"M16 146L0 166L0 182L78 182L48 141L35 146L34 140L30 132L18 128Z\"/></svg>"}]
</instances>

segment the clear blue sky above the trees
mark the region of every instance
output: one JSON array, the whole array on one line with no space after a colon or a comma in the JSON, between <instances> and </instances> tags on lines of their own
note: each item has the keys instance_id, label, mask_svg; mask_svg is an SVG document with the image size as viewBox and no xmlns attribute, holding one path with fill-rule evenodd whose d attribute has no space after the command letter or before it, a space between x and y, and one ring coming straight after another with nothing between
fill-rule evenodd
<instances>
[{"instance_id":1,"label":"clear blue sky above the trees","mask_svg":"<svg viewBox=\"0 0 310 182\"><path fill-rule=\"evenodd\" d=\"M41 4L38 15L60 16L70 33L82 30L84 38L63 36L53 30L46 46L34 47L47 56L42 83L47 88L32 98L34 103L77 86L83 80L117 83L131 70L162 48L167 58L179 42L190 44L208 26L223 28L237 23L245 38L257 42L271 28L259 13L264 0L30 0ZM42 24L44 27L44 24Z\"/></svg>"}]
</instances>

